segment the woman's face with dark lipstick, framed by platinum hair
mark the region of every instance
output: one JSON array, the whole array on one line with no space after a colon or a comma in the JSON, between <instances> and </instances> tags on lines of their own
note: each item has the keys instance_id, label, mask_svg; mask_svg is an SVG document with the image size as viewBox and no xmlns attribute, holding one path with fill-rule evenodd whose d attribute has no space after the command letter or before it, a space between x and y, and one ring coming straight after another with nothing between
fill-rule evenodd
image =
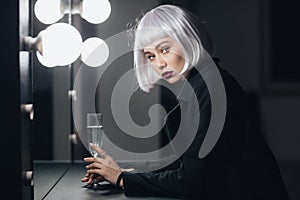
<instances>
[{"instance_id":1,"label":"woman's face with dark lipstick, framed by platinum hair","mask_svg":"<svg viewBox=\"0 0 300 200\"><path fill-rule=\"evenodd\" d=\"M158 39L146 46L144 56L152 69L169 83L175 83L185 76L179 75L185 64L183 50L170 37Z\"/></svg>"}]
</instances>

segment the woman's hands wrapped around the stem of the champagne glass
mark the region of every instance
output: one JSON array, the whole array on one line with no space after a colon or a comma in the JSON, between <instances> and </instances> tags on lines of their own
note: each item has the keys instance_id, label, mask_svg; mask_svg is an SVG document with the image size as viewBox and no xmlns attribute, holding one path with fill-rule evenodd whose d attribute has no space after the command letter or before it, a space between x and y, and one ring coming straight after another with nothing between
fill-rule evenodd
<instances>
[{"instance_id":1,"label":"woman's hands wrapped around the stem of the champagne glass","mask_svg":"<svg viewBox=\"0 0 300 200\"><path fill-rule=\"evenodd\" d=\"M99 155L102 156L102 158L88 157L84 159L85 162L89 162L91 164L86 166L87 174L83 179L81 179L81 181L88 182L89 184L92 182L93 174L97 174L100 175L99 181L107 180L108 182L116 185L118 176L123 170L103 149L100 149L93 144L90 145L99 153ZM120 186L123 186L123 181L121 181Z\"/></svg>"}]
</instances>

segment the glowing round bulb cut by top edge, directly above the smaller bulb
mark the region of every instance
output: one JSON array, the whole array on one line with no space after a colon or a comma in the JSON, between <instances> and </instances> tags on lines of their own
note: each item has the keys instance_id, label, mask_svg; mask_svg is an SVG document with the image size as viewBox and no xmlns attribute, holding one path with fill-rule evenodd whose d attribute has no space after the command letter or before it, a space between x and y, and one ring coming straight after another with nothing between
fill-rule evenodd
<instances>
[{"instance_id":1,"label":"glowing round bulb cut by top edge, directly above the smaller bulb","mask_svg":"<svg viewBox=\"0 0 300 200\"><path fill-rule=\"evenodd\" d=\"M111 5L108 0L83 0L81 17L92 24L100 24L108 19Z\"/></svg>"}]
</instances>

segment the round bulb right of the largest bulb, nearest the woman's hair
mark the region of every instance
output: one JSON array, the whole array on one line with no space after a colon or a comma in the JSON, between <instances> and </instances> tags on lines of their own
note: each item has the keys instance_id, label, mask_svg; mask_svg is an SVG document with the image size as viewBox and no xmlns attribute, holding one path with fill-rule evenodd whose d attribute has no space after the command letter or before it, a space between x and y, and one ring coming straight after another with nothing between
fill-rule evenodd
<instances>
[{"instance_id":1,"label":"round bulb right of the largest bulb, nearest the woman's hair","mask_svg":"<svg viewBox=\"0 0 300 200\"><path fill-rule=\"evenodd\" d=\"M106 42L97 37L88 38L83 42L81 60L90 67L103 65L109 56Z\"/></svg>"}]
</instances>

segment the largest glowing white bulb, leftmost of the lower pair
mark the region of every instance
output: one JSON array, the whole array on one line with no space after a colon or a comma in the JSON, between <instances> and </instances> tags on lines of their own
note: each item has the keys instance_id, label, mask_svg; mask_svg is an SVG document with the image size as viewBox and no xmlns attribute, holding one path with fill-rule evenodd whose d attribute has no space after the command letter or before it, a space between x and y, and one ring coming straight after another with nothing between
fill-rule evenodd
<instances>
[{"instance_id":1,"label":"largest glowing white bulb, leftmost of the lower pair","mask_svg":"<svg viewBox=\"0 0 300 200\"><path fill-rule=\"evenodd\" d=\"M42 59L46 64L65 66L80 56L82 38L78 30L70 24L53 24L43 31L41 38Z\"/></svg>"}]
</instances>

